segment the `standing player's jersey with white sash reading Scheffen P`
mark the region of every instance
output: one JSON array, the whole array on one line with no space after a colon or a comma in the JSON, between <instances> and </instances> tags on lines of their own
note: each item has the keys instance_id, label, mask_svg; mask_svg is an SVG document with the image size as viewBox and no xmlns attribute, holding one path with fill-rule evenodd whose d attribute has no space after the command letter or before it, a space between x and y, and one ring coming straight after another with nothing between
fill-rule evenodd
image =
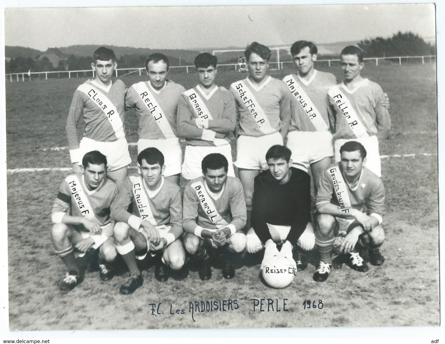
<instances>
[{"instance_id":1,"label":"standing player's jersey with white sash reading Scheffen P","mask_svg":"<svg viewBox=\"0 0 445 344\"><path fill-rule=\"evenodd\" d=\"M291 94L282 81L267 76L256 86L247 77L234 82L230 90L235 98L238 135L259 137L289 127Z\"/></svg>"}]
</instances>

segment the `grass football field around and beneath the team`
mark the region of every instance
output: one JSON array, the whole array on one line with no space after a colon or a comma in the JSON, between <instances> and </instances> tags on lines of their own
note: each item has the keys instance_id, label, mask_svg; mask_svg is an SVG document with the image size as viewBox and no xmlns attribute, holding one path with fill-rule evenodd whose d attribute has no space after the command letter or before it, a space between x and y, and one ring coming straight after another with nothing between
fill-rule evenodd
<instances>
[{"instance_id":1,"label":"grass football field around and beneath the team","mask_svg":"<svg viewBox=\"0 0 445 344\"><path fill-rule=\"evenodd\" d=\"M326 283L312 280L315 258L293 283L275 290L260 282L259 264L250 263L225 280L213 268L202 282L191 271L184 280L159 283L154 268L143 271L144 285L133 295L120 295L125 269L109 282L87 272L84 282L68 294L57 282L65 267L53 253L50 213L58 187L69 171L16 172L22 168L70 167L65 121L71 97L85 79L6 82L8 183L9 328L11 330L256 328L335 326L439 325L439 253L437 190L437 100L434 65L369 63L362 74L379 83L391 101L392 130L380 149L386 189L387 240L381 248L386 262L366 274L348 267L333 270ZM322 68L336 74L338 67ZM291 69L271 71L283 77ZM246 77L219 73L218 85ZM171 74L186 89L196 76ZM127 86L145 80L123 77ZM126 113L128 142L137 140L133 110ZM235 148L235 147L233 147ZM135 166L136 147L130 147ZM411 157L401 155L415 154ZM427 155L423 155L427 154ZM400 156L397 156L400 155ZM12 170L12 171L11 171ZM25 211L24 211L25 210ZM84 261L86 263L86 259ZM278 299L281 312L253 311L251 299ZM189 312L190 301L236 299L239 308L220 312ZM287 299L283 310L283 299ZM303 309L304 300L323 301L323 309ZM162 303L151 315L149 304ZM170 314L184 309L185 314Z\"/></svg>"}]
</instances>

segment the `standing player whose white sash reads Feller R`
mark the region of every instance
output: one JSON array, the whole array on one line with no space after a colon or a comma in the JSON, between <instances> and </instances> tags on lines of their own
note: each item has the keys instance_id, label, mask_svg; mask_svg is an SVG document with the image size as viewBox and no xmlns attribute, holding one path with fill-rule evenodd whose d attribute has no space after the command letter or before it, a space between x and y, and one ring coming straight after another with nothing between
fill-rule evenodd
<instances>
[{"instance_id":1,"label":"standing player whose white sash reads Feller R","mask_svg":"<svg viewBox=\"0 0 445 344\"><path fill-rule=\"evenodd\" d=\"M340 64L344 81L332 86L327 97L335 160L340 161L340 147L345 142L360 142L368 152L366 167L380 177L379 143L391 128L388 110L382 105L385 95L378 84L360 76L364 62L359 47L344 48Z\"/></svg>"}]
</instances>

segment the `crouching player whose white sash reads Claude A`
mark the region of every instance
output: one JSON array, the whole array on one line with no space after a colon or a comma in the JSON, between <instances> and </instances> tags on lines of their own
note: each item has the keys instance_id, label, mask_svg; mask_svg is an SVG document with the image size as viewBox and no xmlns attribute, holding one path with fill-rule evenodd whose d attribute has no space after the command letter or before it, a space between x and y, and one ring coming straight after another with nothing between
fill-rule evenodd
<instances>
[{"instance_id":1,"label":"crouching player whose white sash reads Claude A","mask_svg":"<svg viewBox=\"0 0 445 344\"><path fill-rule=\"evenodd\" d=\"M116 220L114 240L130 272L121 285L121 294L131 294L142 286L143 279L136 259L147 253L156 257L155 277L165 282L166 265L180 270L185 251L178 238L182 234L182 199L178 185L162 177L164 155L149 147L138 155L141 173L131 175L119 189L117 202L111 208ZM132 208L131 212L127 209Z\"/></svg>"}]
</instances>

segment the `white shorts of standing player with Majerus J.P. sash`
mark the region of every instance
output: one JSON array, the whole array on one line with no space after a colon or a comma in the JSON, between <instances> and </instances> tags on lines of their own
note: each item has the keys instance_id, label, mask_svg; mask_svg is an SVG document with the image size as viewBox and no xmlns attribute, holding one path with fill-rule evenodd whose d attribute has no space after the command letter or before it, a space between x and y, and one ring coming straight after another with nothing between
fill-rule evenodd
<instances>
[{"instance_id":1,"label":"white shorts of standing player with Majerus J.P. sash","mask_svg":"<svg viewBox=\"0 0 445 344\"><path fill-rule=\"evenodd\" d=\"M312 163L334 155L332 134L328 131L291 131L286 146L292 151L292 166L305 172Z\"/></svg>"}]
</instances>

